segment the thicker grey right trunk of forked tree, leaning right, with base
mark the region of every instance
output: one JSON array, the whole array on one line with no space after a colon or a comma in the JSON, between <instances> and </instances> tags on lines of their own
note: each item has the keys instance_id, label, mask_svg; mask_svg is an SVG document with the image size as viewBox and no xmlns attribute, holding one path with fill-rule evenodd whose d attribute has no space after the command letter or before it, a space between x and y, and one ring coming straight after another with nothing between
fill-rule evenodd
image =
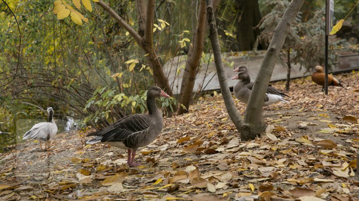
<instances>
[{"instance_id":1,"label":"thicker grey right trunk of forked tree, leaning right, with base","mask_svg":"<svg viewBox=\"0 0 359 201\"><path fill-rule=\"evenodd\" d=\"M299 12L304 0L292 0L284 12L277 27L274 29L273 38L269 44L263 63L254 81L253 89L250 94L248 105L244 115L244 127L241 132L241 139L253 139L265 130L262 111L264 97L267 90L269 80L272 76L274 65L278 59L278 55L283 47L284 41L290 29L290 25ZM250 127L248 134L247 127Z\"/></svg>"}]
</instances>

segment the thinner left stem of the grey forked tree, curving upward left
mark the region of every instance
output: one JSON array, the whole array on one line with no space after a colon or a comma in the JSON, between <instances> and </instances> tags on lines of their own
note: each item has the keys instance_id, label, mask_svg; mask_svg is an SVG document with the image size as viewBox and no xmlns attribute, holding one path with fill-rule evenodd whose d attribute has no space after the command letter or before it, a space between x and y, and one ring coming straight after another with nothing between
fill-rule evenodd
<instances>
[{"instance_id":1,"label":"thinner left stem of the grey forked tree, curving upward left","mask_svg":"<svg viewBox=\"0 0 359 201\"><path fill-rule=\"evenodd\" d=\"M237 108L235 107L231 92L228 87L227 78L224 73L222 55L220 52L219 41L218 41L218 32L217 32L215 16L212 7L212 0L206 0L206 4L207 4L207 20L209 27L209 39L212 45L214 64L217 71L219 86L222 92L224 105L227 109L228 115L231 118L234 126L237 128L238 131L240 131L242 127L242 119L240 117Z\"/></svg>"}]
</instances>

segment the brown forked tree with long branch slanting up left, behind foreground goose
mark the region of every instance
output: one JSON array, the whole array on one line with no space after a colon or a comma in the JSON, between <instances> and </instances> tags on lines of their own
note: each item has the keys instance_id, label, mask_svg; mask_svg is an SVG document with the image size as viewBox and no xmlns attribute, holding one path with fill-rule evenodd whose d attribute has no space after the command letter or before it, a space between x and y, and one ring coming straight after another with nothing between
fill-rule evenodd
<instances>
[{"instance_id":1,"label":"brown forked tree with long branch slanting up left, behind foreground goose","mask_svg":"<svg viewBox=\"0 0 359 201\"><path fill-rule=\"evenodd\" d=\"M107 3L103 1L96 2L100 5L107 13L110 14L122 27L124 27L130 35L135 39L137 44L148 54L147 58L150 62L150 67L154 72L155 84L161 87L168 95L173 96L172 88L169 84L165 71L162 67L161 62L156 55L153 44L153 19L155 15L155 0L148 0L147 2L147 14L144 37L141 37L125 20L123 20Z\"/></svg>"}]
</instances>

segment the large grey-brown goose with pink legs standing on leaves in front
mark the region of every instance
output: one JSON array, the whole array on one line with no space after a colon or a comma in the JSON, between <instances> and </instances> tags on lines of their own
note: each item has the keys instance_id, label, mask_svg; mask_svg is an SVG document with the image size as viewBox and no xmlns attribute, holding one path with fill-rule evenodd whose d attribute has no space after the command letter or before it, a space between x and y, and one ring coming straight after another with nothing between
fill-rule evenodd
<instances>
[{"instance_id":1,"label":"large grey-brown goose with pink legs standing on leaves in front","mask_svg":"<svg viewBox=\"0 0 359 201\"><path fill-rule=\"evenodd\" d=\"M149 114L133 114L121 118L112 125L88 134L96 136L87 144L103 143L114 147L127 149L127 164L130 167L139 166L135 163L136 150L153 142L163 128L162 112L156 105L157 97L170 98L160 87L152 86L147 91L147 109Z\"/></svg>"}]
</instances>

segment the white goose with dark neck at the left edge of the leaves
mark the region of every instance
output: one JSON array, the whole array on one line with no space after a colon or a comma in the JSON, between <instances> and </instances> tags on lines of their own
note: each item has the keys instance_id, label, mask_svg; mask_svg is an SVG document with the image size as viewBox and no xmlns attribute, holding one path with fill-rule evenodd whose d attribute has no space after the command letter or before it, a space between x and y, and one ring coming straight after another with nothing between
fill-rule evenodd
<instances>
[{"instance_id":1,"label":"white goose with dark neck at the left edge of the leaves","mask_svg":"<svg viewBox=\"0 0 359 201\"><path fill-rule=\"evenodd\" d=\"M41 141L45 141L45 150L47 150L47 141L52 139L57 133L57 126L53 118L52 107L47 108L47 122L35 124L28 132L26 132L22 139L38 139L40 141L40 148L42 150Z\"/></svg>"}]
</instances>

